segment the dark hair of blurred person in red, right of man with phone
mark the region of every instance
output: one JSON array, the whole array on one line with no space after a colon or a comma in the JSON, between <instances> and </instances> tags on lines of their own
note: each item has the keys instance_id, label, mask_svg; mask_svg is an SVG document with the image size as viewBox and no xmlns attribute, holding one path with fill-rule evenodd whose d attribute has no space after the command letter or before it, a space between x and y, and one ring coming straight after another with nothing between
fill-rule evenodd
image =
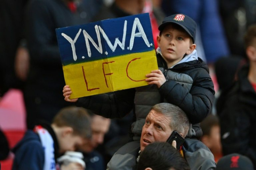
<instances>
[{"instance_id":1,"label":"dark hair of blurred person in red, right of man with phone","mask_svg":"<svg viewBox=\"0 0 256 170\"><path fill-rule=\"evenodd\" d=\"M213 126L219 126L219 119L213 114L209 114L200 124L203 135L210 135Z\"/></svg>"}]
</instances>

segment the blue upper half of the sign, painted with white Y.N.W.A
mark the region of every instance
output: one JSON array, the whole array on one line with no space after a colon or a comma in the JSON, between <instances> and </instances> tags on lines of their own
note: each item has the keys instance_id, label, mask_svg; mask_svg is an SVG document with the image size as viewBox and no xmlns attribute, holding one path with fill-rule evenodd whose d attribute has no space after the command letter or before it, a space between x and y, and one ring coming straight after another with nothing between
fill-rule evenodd
<instances>
[{"instance_id":1,"label":"blue upper half of the sign, painted with white Y.N.W.A","mask_svg":"<svg viewBox=\"0 0 256 170\"><path fill-rule=\"evenodd\" d=\"M98 42L97 33L101 45ZM154 49L148 13L57 28L56 34L63 65ZM123 41L124 39L125 41ZM115 41L118 42L116 46L114 45ZM93 42L95 43L93 44ZM74 44L73 48L72 43ZM88 53L88 51L90 52Z\"/></svg>"}]
</instances>

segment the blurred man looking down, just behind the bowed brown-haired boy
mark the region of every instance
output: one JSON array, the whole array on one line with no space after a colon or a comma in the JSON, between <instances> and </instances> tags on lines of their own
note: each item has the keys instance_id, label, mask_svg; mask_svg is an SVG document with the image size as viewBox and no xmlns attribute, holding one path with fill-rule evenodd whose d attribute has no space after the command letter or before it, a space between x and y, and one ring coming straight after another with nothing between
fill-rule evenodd
<instances>
[{"instance_id":1,"label":"blurred man looking down, just behind the bowed brown-haired boy","mask_svg":"<svg viewBox=\"0 0 256 170\"><path fill-rule=\"evenodd\" d=\"M104 141L104 136L109 130L110 119L90 113L91 116L91 139L79 148L83 152L86 170L105 170L105 160L103 156L95 151L98 145Z\"/></svg>"}]
</instances>

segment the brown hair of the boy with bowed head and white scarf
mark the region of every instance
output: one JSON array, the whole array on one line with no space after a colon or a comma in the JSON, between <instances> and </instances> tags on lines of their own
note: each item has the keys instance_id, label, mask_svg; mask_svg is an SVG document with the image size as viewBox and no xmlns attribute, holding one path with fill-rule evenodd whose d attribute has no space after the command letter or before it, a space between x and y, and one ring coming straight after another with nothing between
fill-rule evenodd
<instances>
[{"instance_id":1,"label":"brown hair of the boy with bowed head and white scarf","mask_svg":"<svg viewBox=\"0 0 256 170\"><path fill-rule=\"evenodd\" d=\"M61 109L53 119L58 127L72 127L73 134L83 138L91 136L90 116L85 108L70 106Z\"/></svg>"}]
</instances>

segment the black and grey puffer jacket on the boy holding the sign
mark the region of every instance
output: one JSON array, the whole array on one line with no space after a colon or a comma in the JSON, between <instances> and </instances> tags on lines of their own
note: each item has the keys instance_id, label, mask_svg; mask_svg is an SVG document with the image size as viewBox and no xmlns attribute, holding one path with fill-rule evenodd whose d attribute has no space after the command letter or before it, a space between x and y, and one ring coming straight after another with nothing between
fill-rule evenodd
<instances>
[{"instance_id":1,"label":"black and grey puffer jacket on the boy holding the sign","mask_svg":"<svg viewBox=\"0 0 256 170\"><path fill-rule=\"evenodd\" d=\"M157 59L158 67L167 79L159 89L156 85L148 85L82 97L77 106L91 109L108 118L122 118L135 106L137 120L131 129L135 135L134 140L141 136L145 118L151 107L157 103L175 104L185 111L192 124L200 123L210 112L215 94L206 63L199 58L168 69L160 54ZM201 133L196 136L200 135Z\"/></svg>"}]
</instances>

